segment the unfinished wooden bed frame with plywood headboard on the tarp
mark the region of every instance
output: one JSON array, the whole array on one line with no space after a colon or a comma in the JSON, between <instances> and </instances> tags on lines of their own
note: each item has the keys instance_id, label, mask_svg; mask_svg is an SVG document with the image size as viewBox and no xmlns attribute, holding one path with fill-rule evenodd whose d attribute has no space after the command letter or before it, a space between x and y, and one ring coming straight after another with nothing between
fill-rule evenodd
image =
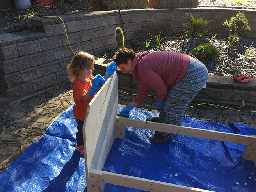
<instances>
[{"instance_id":1,"label":"unfinished wooden bed frame with plywood headboard on the tarp","mask_svg":"<svg viewBox=\"0 0 256 192\"><path fill-rule=\"evenodd\" d=\"M192 137L245 144L242 158L256 166L256 136L154 123L117 116L118 77L114 73L89 103L83 126L87 192L103 192L103 183L137 188L145 191L208 191L171 183L102 171L115 138L124 138L125 126Z\"/></svg>"}]
</instances>

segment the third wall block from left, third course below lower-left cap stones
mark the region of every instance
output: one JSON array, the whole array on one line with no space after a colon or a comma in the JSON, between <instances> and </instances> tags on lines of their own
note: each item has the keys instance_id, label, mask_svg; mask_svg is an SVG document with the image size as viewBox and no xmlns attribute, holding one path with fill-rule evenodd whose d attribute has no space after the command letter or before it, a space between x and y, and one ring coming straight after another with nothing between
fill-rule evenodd
<instances>
[{"instance_id":1,"label":"third wall block from left, third course below lower-left cap stones","mask_svg":"<svg viewBox=\"0 0 256 192\"><path fill-rule=\"evenodd\" d=\"M42 76L47 76L64 69L62 59L56 60L54 62L42 64L40 65L40 67L42 70Z\"/></svg>"}]
</instances>

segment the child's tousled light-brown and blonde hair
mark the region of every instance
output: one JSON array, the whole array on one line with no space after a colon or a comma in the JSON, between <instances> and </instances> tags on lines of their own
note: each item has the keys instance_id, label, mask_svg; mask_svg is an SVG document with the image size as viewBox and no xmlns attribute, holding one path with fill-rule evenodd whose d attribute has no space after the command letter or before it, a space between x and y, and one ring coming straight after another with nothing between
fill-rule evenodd
<instances>
[{"instance_id":1,"label":"child's tousled light-brown and blonde hair","mask_svg":"<svg viewBox=\"0 0 256 192\"><path fill-rule=\"evenodd\" d=\"M94 62L94 57L91 54L84 51L78 52L67 67L70 81L74 82L79 73L86 67L90 68Z\"/></svg>"}]
</instances>

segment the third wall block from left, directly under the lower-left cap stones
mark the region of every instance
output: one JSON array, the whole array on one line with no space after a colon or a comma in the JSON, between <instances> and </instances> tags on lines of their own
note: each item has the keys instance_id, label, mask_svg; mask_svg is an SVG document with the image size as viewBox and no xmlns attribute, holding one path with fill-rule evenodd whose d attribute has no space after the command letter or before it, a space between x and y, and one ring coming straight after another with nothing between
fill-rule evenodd
<instances>
[{"instance_id":1,"label":"third wall block from left, directly under the lower-left cap stones","mask_svg":"<svg viewBox=\"0 0 256 192\"><path fill-rule=\"evenodd\" d=\"M63 46L61 36L39 39L39 42L40 42L41 51Z\"/></svg>"}]
</instances>

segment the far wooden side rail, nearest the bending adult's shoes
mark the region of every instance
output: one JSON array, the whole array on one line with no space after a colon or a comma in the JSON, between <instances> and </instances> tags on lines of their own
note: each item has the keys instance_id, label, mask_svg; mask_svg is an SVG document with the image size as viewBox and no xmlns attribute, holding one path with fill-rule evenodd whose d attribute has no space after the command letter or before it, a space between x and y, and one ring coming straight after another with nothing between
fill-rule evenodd
<instances>
[{"instance_id":1,"label":"far wooden side rail, nearest the bending adult's shoes","mask_svg":"<svg viewBox=\"0 0 256 192\"><path fill-rule=\"evenodd\" d=\"M116 117L116 125L137 127L141 129L157 130L160 132L174 133L191 137L212 139L224 142L239 143L245 145L256 145L255 136L247 136L233 133L218 132L213 130L198 129L184 126L176 126L164 123L155 123L137 119Z\"/></svg>"}]
</instances>

